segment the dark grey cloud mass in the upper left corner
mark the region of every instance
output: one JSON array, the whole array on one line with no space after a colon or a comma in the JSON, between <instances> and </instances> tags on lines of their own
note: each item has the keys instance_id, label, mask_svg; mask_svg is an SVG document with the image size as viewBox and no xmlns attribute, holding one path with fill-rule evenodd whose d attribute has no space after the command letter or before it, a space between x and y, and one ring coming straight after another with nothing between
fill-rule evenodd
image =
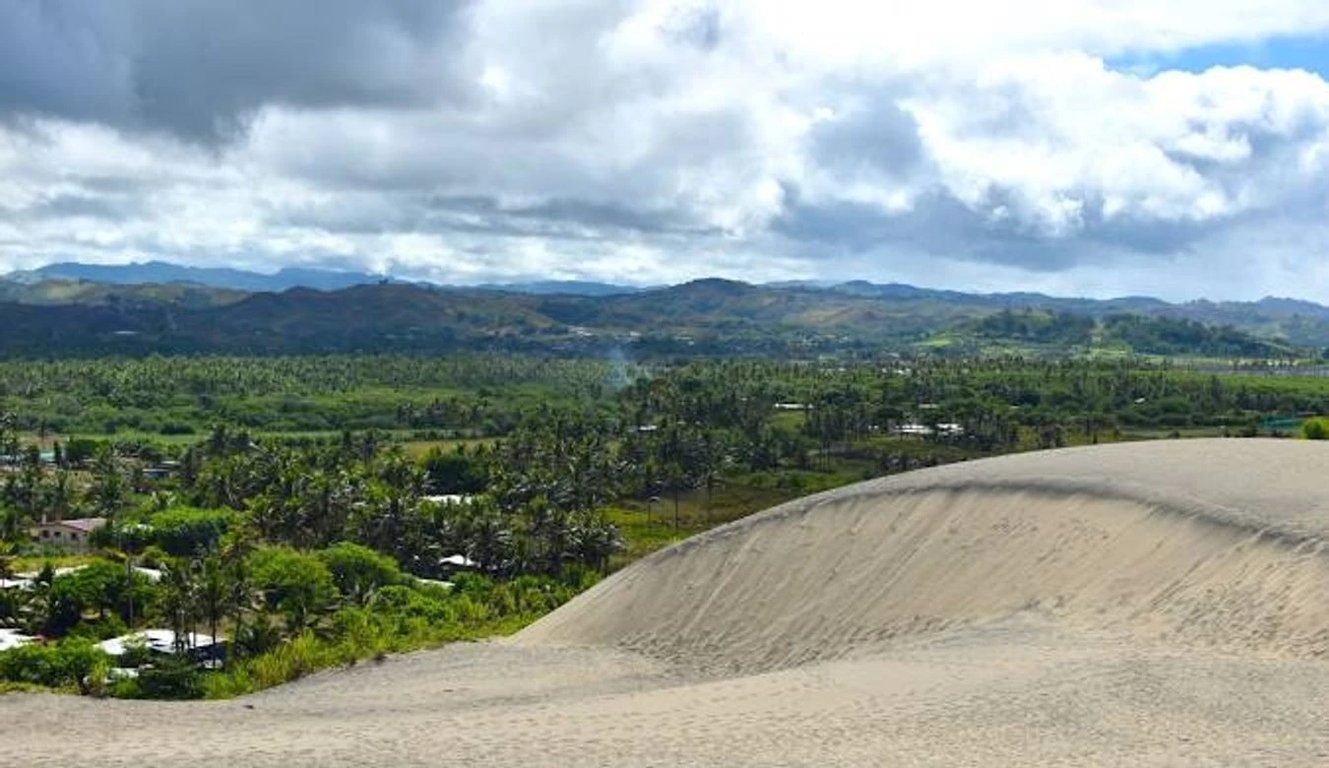
<instances>
[{"instance_id":1,"label":"dark grey cloud mass in the upper left corner","mask_svg":"<svg viewBox=\"0 0 1329 768\"><path fill-rule=\"evenodd\" d=\"M466 7L16 0L0 8L0 110L217 142L272 104L464 102Z\"/></svg>"}]
</instances>

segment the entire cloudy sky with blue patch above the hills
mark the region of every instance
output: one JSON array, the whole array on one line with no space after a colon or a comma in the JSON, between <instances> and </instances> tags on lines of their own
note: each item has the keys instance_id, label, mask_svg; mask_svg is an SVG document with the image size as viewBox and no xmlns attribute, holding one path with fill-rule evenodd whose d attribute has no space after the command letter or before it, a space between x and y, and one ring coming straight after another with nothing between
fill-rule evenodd
<instances>
[{"instance_id":1,"label":"entire cloudy sky with blue patch above the hills","mask_svg":"<svg viewBox=\"0 0 1329 768\"><path fill-rule=\"evenodd\" d=\"M0 271L1329 302L1324 0L0 0Z\"/></svg>"}]
</instances>

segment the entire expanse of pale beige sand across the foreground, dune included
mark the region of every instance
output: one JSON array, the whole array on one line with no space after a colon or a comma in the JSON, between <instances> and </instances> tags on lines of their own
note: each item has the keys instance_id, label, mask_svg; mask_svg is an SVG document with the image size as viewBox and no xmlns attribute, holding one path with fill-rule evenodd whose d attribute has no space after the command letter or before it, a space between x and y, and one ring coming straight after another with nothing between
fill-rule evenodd
<instances>
[{"instance_id":1,"label":"entire expanse of pale beige sand across the foreground, dune included","mask_svg":"<svg viewBox=\"0 0 1329 768\"><path fill-rule=\"evenodd\" d=\"M219 703L0 696L0 765L1329 765L1329 446L800 500L502 643Z\"/></svg>"}]
</instances>

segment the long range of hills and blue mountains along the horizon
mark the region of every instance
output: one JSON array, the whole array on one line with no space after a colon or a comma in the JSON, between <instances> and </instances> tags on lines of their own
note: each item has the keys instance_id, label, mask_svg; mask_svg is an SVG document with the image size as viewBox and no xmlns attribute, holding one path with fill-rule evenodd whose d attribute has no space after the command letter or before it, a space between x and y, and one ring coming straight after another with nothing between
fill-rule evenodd
<instances>
[{"instance_id":1,"label":"long range of hills and blue mountains along the horizon","mask_svg":"<svg viewBox=\"0 0 1329 768\"><path fill-rule=\"evenodd\" d=\"M1329 347L1329 307L1294 299L968 294L898 283L634 288L433 286L363 272L51 264L0 278L0 353L510 349L639 355L1094 349L1284 356Z\"/></svg>"}]
</instances>

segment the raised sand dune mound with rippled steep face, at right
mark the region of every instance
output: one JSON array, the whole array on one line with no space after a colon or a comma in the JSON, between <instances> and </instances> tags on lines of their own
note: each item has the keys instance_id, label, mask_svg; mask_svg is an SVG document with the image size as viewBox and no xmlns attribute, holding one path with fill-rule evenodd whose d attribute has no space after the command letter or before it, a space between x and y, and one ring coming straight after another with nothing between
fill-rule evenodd
<instances>
[{"instance_id":1,"label":"raised sand dune mound with rippled steep face, at right","mask_svg":"<svg viewBox=\"0 0 1329 768\"><path fill-rule=\"evenodd\" d=\"M1193 462L1204 470L1179 472ZM1329 453L1308 442L1192 441L898 476L661 553L520 642L754 672L1037 609L1148 639L1321 656L1326 470Z\"/></svg>"}]
</instances>

